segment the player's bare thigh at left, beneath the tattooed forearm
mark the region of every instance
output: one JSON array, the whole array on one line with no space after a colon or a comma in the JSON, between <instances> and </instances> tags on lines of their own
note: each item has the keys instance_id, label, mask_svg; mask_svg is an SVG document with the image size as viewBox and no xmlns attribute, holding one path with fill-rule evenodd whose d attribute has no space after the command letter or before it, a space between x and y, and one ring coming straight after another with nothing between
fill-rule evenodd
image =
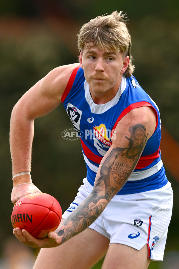
<instances>
[{"instance_id":1,"label":"player's bare thigh at left, beneath the tattooed forearm","mask_svg":"<svg viewBox=\"0 0 179 269\"><path fill-rule=\"evenodd\" d=\"M58 247L41 249L33 269L89 269L108 247L109 239L87 228Z\"/></svg>"}]
</instances>

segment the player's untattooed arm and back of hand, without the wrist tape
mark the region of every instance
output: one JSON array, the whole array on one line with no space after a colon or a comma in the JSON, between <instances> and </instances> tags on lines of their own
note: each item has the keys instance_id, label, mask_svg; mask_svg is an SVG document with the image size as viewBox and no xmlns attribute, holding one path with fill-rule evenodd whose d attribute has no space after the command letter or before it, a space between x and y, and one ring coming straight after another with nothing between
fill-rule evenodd
<instances>
[{"instance_id":1,"label":"player's untattooed arm and back of hand, without the wrist tape","mask_svg":"<svg viewBox=\"0 0 179 269\"><path fill-rule=\"evenodd\" d=\"M10 120L10 151L13 175L20 172L30 172L34 119L49 113L60 104L61 96L72 70L77 65L72 64L55 68L30 88L14 106ZM13 203L27 192L33 192L33 186L29 190L28 187L18 187L16 194L13 190ZM19 191L20 188L21 191Z\"/></svg>"}]
</instances>

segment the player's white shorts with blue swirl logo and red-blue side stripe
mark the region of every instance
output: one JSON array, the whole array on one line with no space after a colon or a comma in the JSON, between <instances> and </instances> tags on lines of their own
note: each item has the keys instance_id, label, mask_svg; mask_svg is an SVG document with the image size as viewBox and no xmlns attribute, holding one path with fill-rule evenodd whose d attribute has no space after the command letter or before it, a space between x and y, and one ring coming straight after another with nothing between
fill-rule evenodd
<instances>
[{"instance_id":1,"label":"player's white shorts with blue swirl logo and red-blue side stripe","mask_svg":"<svg viewBox=\"0 0 179 269\"><path fill-rule=\"evenodd\" d=\"M67 218L92 191L86 178L83 183L62 218ZM137 250L147 244L148 258L163 261L172 201L170 182L160 189L115 195L89 228L110 239L110 244L125 244Z\"/></svg>"}]
</instances>

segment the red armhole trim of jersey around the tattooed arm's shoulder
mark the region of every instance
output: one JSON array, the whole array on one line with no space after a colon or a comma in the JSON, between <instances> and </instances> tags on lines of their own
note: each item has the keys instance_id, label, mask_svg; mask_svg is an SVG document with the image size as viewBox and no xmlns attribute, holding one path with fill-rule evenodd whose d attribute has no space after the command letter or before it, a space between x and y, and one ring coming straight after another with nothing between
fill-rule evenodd
<instances>
[{"instance_id":1,"label":"red armhole trim of jersey around the tattooed arm's shoulder","mask_svg":"<svg viewBox=\"0 0 179 269\"><path fill-rule=\"evenodd\" d=\"M155 110L155 113L156 113L156 119L157 119L157 122L156 122L156 126L155 126L155 129L157 128L157 125L158 125L158 114L157 114L157 111L156 109L148 102L146 101L141 101L141 102L137 102L137 103L133 103L131 105L129 105L128 107L126 107L122 113L120 114L120 116L118 117L118 119L116 120L115 122L115 125L114 127L112 128L112 132L111 132L111 136L113 135L113 132L118 124L118 122L127 114L129 113L132 109L134 108L138 108L138 107L141 107L141 106L151 106L154 110Z\"/></svg>"}]
</instances>

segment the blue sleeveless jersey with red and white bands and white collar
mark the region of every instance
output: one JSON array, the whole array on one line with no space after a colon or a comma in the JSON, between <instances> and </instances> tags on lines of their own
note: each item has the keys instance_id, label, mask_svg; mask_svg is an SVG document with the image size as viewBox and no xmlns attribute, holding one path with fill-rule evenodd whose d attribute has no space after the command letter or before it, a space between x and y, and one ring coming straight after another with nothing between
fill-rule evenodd
<instances>
[{"instance_id":1,"label":"blue sleeveless jersey with red and white bands and white collar","mask_svg":"<svg viewBox=\"0 0 179 269\"><path fill-rule=\"evenodd\" d=\"M115 97L108 103L97 105L90 95L83 69L76 67L61 101L72 124L81 136L81 146L87 166L87 180L93 186L99 164L112 145L111 136L119 120L129 111L150 106L156 113L155 132L147 140L134 172L118 194L131 194L163 187L167 183L161 161L161 121L157 105L141 88L135 77L123 76ZM121 166L121 172L127 173Z\"/></svg>"}]
</instances>

